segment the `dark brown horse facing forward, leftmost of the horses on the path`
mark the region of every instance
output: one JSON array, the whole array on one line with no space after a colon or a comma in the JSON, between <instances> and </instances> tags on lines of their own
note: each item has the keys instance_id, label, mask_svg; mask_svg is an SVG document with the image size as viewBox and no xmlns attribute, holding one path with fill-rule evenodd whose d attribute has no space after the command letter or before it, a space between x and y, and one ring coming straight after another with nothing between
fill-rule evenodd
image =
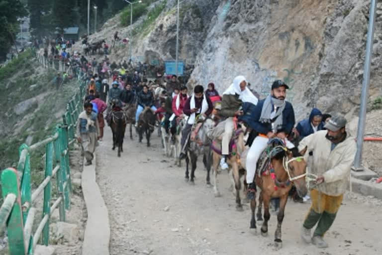
<instances>
[{"instance_id":1,"label":"dark brown horse facing forward, leftmost of the horses on the path","mask_svg":"<svg viewBox=\"0 0 382 255\"><path fill-rule=\"evenodd\" d=\"M123 138L125 136L126 130L126 116L123 111L112 111L111 112L111 131L113 132L113 147L112 150L118 146L118 157L121 156L123 152Z\"/></svg>"}]
</instances>

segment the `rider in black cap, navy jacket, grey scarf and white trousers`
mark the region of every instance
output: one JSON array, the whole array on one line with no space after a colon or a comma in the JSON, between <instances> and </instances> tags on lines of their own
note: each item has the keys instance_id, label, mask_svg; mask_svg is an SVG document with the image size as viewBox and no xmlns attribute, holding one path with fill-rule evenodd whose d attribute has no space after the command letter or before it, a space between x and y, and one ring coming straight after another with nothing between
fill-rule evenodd
<instances>
[{"instance_id":1,"label":"rider in black cap, navy jacket, grey scarf and white trousers","mask_svg":"<svg viewBox=\"0 0 382 255\"><path fill-rule=\"evenodd\" d=\"M246 160L249 199L254 198L256 164L267 147L269 138L279 137L284 140L287 148L294 147L286 138L295 124L293 107L285 100L287 89L289 87L283 81L275 81L272 84L271 94L261 100L251 112L248 125L258 132L258 136L254 139Z\"/></svg>"}]
</instances>

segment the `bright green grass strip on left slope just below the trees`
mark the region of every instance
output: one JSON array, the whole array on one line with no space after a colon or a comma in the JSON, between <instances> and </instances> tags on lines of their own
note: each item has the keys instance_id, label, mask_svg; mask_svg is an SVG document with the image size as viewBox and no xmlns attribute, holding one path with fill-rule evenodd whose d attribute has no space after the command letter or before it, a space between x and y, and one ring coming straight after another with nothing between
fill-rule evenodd
<instances>
[{"instance_id":1,"label":"bright green grass strip on left slope just below the trees","mask_svg":"<svg viewBox=\"0 0 382 255\"><path fill-rule=\"evenodd\" d=\"M13 74L19 72L23 68L27 68L29 60L35 55L36 53L33 49L29 48L24 52L21 52L16 58L12 59L6 66L0 68L0 82L13 76Z\"/></svg>"}]
</instances>

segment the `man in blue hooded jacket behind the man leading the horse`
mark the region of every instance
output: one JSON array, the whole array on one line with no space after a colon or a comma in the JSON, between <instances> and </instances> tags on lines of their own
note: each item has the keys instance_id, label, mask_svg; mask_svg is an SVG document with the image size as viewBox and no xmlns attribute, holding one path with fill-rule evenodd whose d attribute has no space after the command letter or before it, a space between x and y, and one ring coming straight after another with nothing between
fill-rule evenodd
<instances>
[{"instance_id":1,"label":"man in blue hooded jacket behind the man leading the horse","mask_svg":"<svg viewBox=\"0 0 382 255\"><path fill-rule=\"evenodd\" d=\"M302 139L309 134L322 130L323 128L324 123L322 122L322 113L317 108L313 108L310 112L309 119L302 120L297 124L296 130L298 133L296 134Z\"/></svg>"}]
</instances>

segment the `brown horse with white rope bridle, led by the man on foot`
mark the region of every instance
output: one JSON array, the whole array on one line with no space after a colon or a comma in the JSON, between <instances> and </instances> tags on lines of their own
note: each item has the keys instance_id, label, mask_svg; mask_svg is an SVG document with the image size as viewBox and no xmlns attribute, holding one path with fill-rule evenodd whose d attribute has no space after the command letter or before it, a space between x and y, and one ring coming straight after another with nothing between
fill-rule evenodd
<instances>
[{"instance_id":1,"label":"brown horse with white rope bridle, led by the man on foot","mask_svg":"<svg viewBox=\"0 0 382 255\"><path fill-rule=\"evenodd\" d=\"M254 181L256 181L256 185L261 189L257 212L258 221L263 220L261 210L264 203L264 222L261 227L262 236L268 236L268 221L271 217L269 213L270 200L280 198L280 211L277 216L278 224L275 232L276 249L280 249L283 246L281 226L284 220L288 192L292 187L292 183L294 183L299 196L303 197L307 193L304 178L306 176L306 162L302 157L305 152L306 148L301 153L298 153L296 148L291 151L285 147L281 139L273 138L257 163ZM256 233L256 195L254 197L251 200L252 216L250 229Z\"/></svg>"}]
</instances>

